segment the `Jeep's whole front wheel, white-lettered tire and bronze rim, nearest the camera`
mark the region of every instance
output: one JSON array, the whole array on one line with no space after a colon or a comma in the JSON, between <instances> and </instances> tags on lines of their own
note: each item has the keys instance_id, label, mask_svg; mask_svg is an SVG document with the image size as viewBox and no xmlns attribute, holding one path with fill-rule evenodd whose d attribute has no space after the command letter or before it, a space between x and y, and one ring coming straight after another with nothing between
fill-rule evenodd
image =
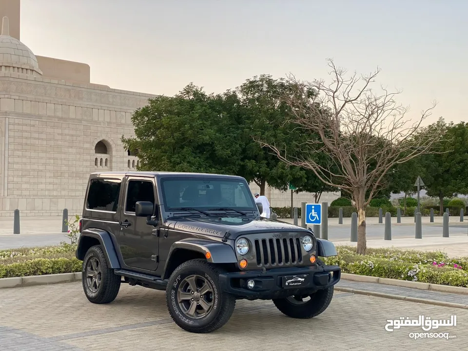
<instances>
[{"instance_id":1,"label":"Jeep's whole front wheel, white-lettered tire and bronze rim, nearest the camera","mask_svg":"<svg viewBox=\"0 0 468 351\"><path fill-rule=\"evenodd\" d=\"M221 328L234 312L235 297L221 291L218 276L223 271L205 260L182 263L167 284L166 303L176 324L195 333Z\"/></svg>"}]
</instances>

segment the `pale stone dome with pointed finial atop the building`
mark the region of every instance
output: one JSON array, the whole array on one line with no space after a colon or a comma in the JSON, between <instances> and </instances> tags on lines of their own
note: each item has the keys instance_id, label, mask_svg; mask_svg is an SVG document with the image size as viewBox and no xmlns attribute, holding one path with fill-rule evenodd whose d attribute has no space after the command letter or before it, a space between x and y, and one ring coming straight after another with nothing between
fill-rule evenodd
<instances>
[{"instance_id":1,"label":"pale stone dome with pointed finial atop the building","mask_svg":"<svg viewBox=\"0 0 468 351\"><path fill-rule=\"evenodd\" d=\"M20 40L10 37L8 17L3 17L0 35L0 72L42 76L38 59Z\"/></svg>"}]
</instances>

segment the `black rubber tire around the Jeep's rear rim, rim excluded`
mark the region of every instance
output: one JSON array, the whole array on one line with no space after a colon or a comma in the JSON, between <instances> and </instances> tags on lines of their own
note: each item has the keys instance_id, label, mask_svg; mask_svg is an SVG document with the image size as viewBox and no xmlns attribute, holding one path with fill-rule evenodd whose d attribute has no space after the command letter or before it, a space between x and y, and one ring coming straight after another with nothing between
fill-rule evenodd
<instances>
[{"instance_id":1,"label":"black rubber tire around the Jeep's rear rim, rim excluded","mask_svg":"<svg viewBox=\"0 0 468 351\"><path fill-rule=\"evenodd\" d=\"M96 292L93 292L87 283L86 268L91 259L97 259L100 268L100 285ZM120 275L116 275L114 270L107 265L106 256L100 245L89 248L83 259L83 268L81 271L81 282L84 294L87 299L95 304L105 304L115 300L120 289Z\"/></svg>"}]
</instances>

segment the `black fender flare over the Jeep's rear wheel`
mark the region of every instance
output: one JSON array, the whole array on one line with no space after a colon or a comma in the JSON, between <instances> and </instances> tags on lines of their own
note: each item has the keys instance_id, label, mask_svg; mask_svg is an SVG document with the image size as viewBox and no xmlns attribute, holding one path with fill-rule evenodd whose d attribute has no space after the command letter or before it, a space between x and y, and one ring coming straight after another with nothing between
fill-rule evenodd
<instances>
[{"instance_id":1,"label":"black fender flare over the Jeep's rear wheel","mask_svg":"<svg viewBox=\"0 0 468 351\"><path fill-rule=\"evenodd\" d=\"M114 242L111 238L111 234L101 229L86 229L79 235L76 252L76 257L79 260L83 260L84 256L86 255L86 251L89 249L89 247L87 247L86 245L86 238L98 239L102 251L106 256L107 265L109 266L109 268L121 268L120 262L118 261L116 248L114 247Z\"/></svg>"}]
</instances>

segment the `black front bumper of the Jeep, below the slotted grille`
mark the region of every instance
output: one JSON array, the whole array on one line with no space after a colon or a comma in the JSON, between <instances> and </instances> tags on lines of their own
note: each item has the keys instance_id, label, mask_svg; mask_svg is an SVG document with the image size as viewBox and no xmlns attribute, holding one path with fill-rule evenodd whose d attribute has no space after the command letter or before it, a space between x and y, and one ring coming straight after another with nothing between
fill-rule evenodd
<instances>
[{"instance_id":1,"label":"black front bumper of the Jeep, below the slotted grille","mask_svg":"<svg viewBox=\"0 0 468 351\"><path fill-rule=\"evenodd\" d=\"M285 283L285 280L293 277L296 277L293 283L300 282L299 287L291 282L289 285ZM335 285L340 277L341 268L338 266L312 266L222 273L219 280L223 291L237 297L272 299L311 294ZM254 287L250 289L247 282L251 279L254 280Z\"/></svg>"}]
</instances>

